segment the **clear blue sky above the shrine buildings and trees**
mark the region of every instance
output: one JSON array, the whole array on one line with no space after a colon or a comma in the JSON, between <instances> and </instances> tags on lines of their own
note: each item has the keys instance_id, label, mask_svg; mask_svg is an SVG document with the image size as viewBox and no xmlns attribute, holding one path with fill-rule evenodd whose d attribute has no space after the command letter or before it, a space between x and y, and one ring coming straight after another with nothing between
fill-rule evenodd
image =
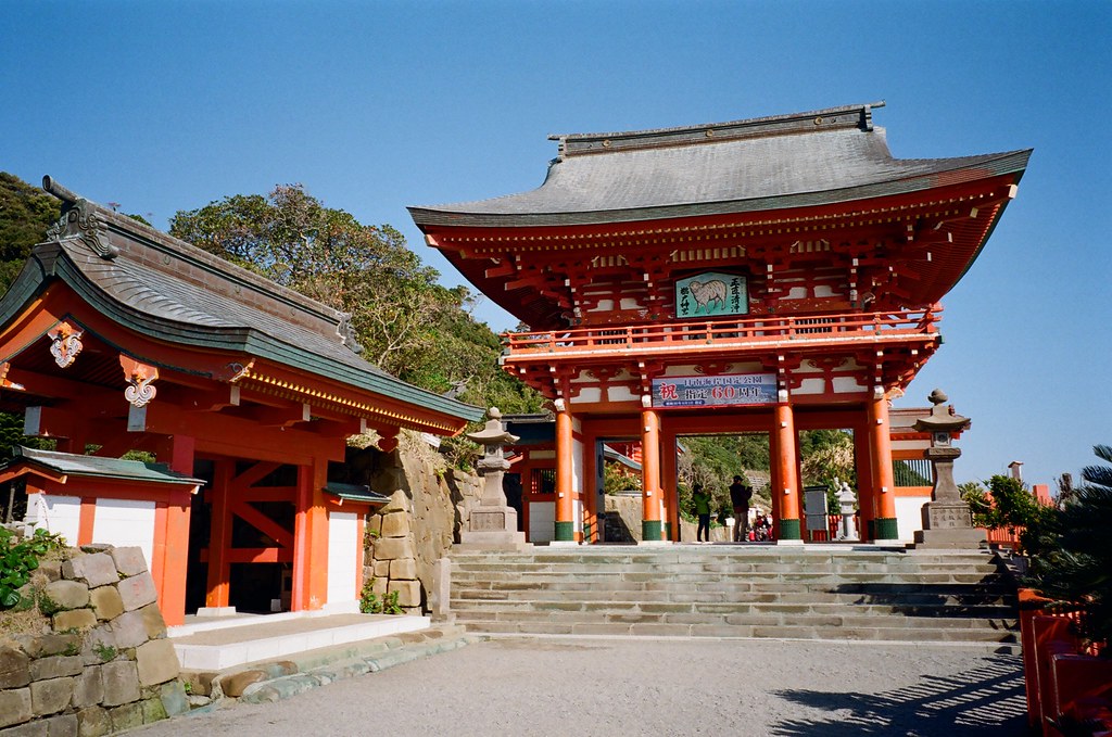
<instances>
[{"instance_id":1,"label":"clear blue sky above the shrine buildings and trees","mask_svg":"<svg viewBox=\"0 0 1112 737\"><path fill-rule=\"evenodd\" d=\"M446 283L405 207L539 186L548 133L885 100L900 158L1034 148L897 406L937 386L973 419L960 481L1021 460L1052 482L1112 444L1110 2L0 0L0 170L159 228L300 182Z\"/></svg>"}]
</instances>

